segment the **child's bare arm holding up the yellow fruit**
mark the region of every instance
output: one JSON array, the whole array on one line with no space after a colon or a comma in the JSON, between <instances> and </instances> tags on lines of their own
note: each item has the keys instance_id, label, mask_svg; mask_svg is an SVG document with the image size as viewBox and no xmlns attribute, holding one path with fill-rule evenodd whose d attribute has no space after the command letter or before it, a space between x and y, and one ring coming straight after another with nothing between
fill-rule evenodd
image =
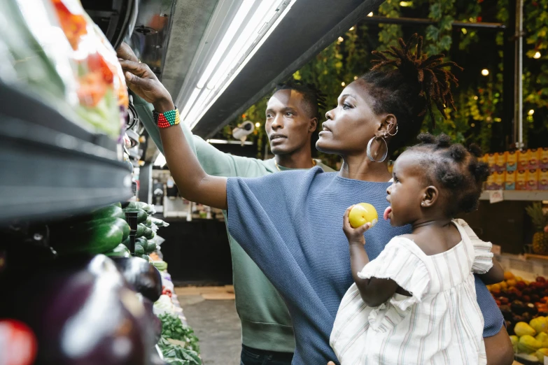
<instances>
[{"instance_id":1,"label":"child's bare arm holding up the yellow fruit","mask_svg":"<svg viewBox=\"0 0 548 365\"><path fill-rule=\"evenodd\" d=\"M367 306L377 307L394 295L396 289L398 289L398 284L391 279L362 279L358 276L358 272L362 271L365 265L369 264L369 257L363 248L363 245L365 245L363 234L367 229L370 229L371 224L367 223L362 227L352 228L349 222L349 213L352 207L346 209L342 227L346 238L349 240L352 276L360 291L362 300Z\"/></svg>"}]
</instances>

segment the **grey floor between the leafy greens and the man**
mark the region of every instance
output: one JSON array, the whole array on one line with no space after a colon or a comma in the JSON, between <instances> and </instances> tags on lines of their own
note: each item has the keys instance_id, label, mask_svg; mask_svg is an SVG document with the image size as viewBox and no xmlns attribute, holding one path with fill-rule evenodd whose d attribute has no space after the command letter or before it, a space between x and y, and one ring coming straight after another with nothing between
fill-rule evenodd
<instances>
[{"instance_id":1,"label":"grey floor between the leafy greens and the man","mask_svg":"<svg viewBox=\"0 0 548 365\"><path fill-rule=\"evenodd\" d=\"M188 324L199 338L204 365L239 365L241 324L232 287L176 287Z\"/></svg>"}]
</instances>

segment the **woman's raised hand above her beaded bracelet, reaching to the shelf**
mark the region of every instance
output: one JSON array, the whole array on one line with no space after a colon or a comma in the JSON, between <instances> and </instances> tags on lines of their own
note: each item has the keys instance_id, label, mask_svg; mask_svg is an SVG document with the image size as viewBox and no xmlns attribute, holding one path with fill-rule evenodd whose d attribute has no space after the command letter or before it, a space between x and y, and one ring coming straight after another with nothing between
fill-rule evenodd
<instances>
[{"instance_id":1,"label":"woman's raised hand above her beaded bracelet, reaching to the shelf","mask_svg":"<svg viewBox=\"0 0 548 365\"><path fill-rule=\"evenodd\" d=\"M158 80L153 71L150 70L150 67L147 64L134 61L133 59L136 59L136 57L133 52L129 52L131 50L128 51L125 47L122 47L123 44L118 48L117 54L124 71L127 87L135 94L141 96L141 98L152 103L155 110L159 113L174 110L175 107L171 95L167 92L164 85L160 83L160 80ZM127 57L128 59L124 59L123 57Z\"/></svg>"}]
</instances>

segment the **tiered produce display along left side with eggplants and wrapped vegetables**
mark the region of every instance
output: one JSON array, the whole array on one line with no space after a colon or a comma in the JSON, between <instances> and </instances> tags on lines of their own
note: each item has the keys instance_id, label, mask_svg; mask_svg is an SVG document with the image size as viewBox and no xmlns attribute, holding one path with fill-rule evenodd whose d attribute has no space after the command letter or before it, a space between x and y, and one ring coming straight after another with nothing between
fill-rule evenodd
<instances>
[{"instance_id":1,"label":"tiered produce display along left side with eggplants and wrapped vegetables","mask_svg":"<svg viewBox=\"0 0 548 365\"><path fill-rule=\"evenodd\" d=\"M0 29L0 364L201 364L112 45L78 0L0 1Z\"/></svg>"}]
</instances>

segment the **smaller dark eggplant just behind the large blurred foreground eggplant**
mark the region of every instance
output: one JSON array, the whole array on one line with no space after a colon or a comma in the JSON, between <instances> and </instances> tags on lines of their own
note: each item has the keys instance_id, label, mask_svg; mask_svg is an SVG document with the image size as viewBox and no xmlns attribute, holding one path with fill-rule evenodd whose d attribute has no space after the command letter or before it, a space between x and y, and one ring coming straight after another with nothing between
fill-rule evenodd
<instances>
[{"instance_id":1,"label":"smaller dark eggplant just behind the large blurred foreground eggplant","mask_svg":"<svg viewBox=\"0 0 548 365\"><path fill-rule=\"evenodd\" d=\"M153 303L162 295L162 275L140 257L113 257L118 269L132 288Z\"/></svg>"}]
</instances>

